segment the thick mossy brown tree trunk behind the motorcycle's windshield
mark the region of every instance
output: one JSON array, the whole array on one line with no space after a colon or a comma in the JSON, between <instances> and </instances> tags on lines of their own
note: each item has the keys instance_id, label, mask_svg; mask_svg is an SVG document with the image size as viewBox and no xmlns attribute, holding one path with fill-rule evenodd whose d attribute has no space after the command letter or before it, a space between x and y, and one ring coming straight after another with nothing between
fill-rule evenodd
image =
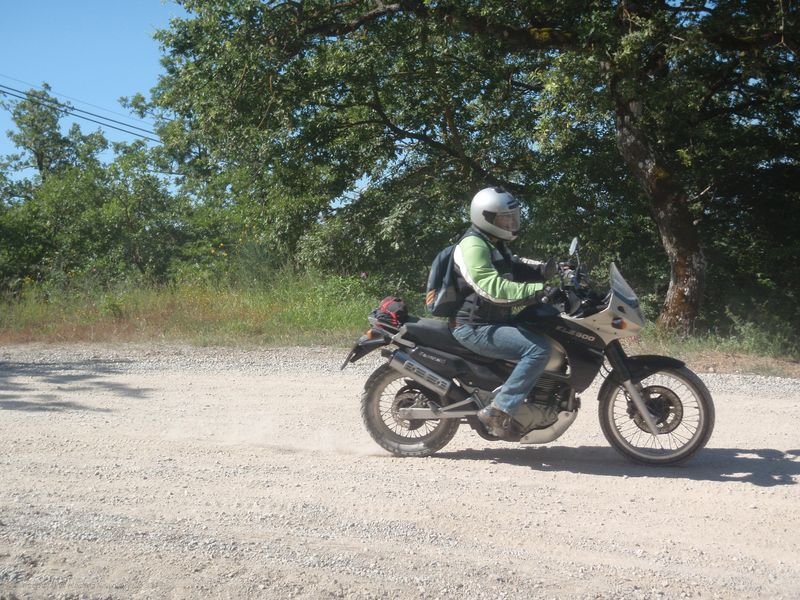
<instances>
[{"instance_id":1,"label":"thick mossy brown tree trunk behind the motorcycle's windshield","mask_svg":"<svg viewBox=\"0 0 800 600\"><path fill-rule=\"evenodd\" d=\"M639 127L641 103L615 95L617 147L647 197L669 258L670 281L660 329L687 335L695 327L703 297L705 258L682 186Z\"/></svg>"}]
</instances>

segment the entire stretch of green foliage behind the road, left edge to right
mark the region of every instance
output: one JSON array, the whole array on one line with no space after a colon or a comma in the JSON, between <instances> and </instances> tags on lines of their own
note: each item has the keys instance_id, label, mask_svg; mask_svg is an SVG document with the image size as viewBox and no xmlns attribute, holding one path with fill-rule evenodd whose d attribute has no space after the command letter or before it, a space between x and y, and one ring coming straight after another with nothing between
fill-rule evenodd
<instances>
[{"instance_id":1,"label":"entire stretch of green foliage behind the road, left edge to right","mask_svg":"<svg viewBox=\"0 0 800 600\"><path fill-rule=\"evenodd\" d=\"M5 289L249 291L286 271L414 302L471 195L504 185L520 254L578 235L655 318L699 240L696 324L738 335L758 307L797 331L794 3L183 4L153 98L128 101L162 146L101 164L103 136L62 131L46 86L4 104Z\"/></svg>"}]
</instances>

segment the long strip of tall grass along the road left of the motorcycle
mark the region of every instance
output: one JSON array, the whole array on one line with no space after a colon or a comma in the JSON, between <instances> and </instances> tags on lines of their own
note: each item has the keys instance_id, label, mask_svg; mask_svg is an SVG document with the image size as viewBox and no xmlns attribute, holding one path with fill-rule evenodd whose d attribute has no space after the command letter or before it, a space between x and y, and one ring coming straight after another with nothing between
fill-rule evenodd
<instances>
[{"instance_id":1,"label":"long strip of tall grass along the road left of the motorcycle","mask_svg":"<svg viewBox=\"0 0 800 600\"><path fill-rule=\"evenodd\" d=\"M342 288L345 284L353 289ZM346 345L379 298L357 282L281 274L263 288L27 290L0 312L0 343L148 342L196 345Z\"/></svg>"}]
</instances>

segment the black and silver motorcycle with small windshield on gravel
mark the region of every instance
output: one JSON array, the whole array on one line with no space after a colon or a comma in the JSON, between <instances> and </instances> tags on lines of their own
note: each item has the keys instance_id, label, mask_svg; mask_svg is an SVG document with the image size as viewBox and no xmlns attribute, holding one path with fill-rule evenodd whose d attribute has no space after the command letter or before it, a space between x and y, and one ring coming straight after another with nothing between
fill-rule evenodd
<instances>
[{"instance_id":1,"label":"black and silver motorcycle with small windshield on gravel","mask_svg":"<svg viewBox=\"0 0 800 600\"><path fill-rule=\"evenodd\" d=\"M701 379L675 358L629 356L621 340L644 325L639 300L614 263L610 289L595 289L580 264L578 239L559 263L560 284L515 317L548 336L547 367L511 426L498 437L477 418L514 368L479 356L452 336L447 321L410 316L397 327L369 317L370 329L342 364L380 348L387 361L367 379L361 416L371 437L396 456L429 456L462 423L483 439L545 444L558 439L581 408L579 394L601 373L600 428L623 456L650 465L687 460L708 442L714 403Z\"/></svg>"}]
</instances>

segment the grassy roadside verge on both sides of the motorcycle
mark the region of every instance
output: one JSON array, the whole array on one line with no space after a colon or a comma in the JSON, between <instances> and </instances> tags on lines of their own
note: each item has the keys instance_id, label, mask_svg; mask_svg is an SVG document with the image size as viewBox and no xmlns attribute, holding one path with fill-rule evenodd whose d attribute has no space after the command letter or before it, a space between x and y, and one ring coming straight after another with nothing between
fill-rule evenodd
<instances>
[{"instance_id":1,"label":"grassy roadside verge on both sides of the motorcycle","mask_svg":"<svg viewBox=\"0 0 800 600\"><path fill-rule=\"evenodd\" d=\"M52 293L31 287L0 309L0 344L166 342L200 346L334 346L352 343L385 295L358 278L276 273L246 287L181 285ZM422 314L421 300L410 302ZM735 335L677 339L654 327L627 343L632 354L665 354L700 373L747 372L800 378L787 342L752 324Z\"/></svg>"}]
</instances>

